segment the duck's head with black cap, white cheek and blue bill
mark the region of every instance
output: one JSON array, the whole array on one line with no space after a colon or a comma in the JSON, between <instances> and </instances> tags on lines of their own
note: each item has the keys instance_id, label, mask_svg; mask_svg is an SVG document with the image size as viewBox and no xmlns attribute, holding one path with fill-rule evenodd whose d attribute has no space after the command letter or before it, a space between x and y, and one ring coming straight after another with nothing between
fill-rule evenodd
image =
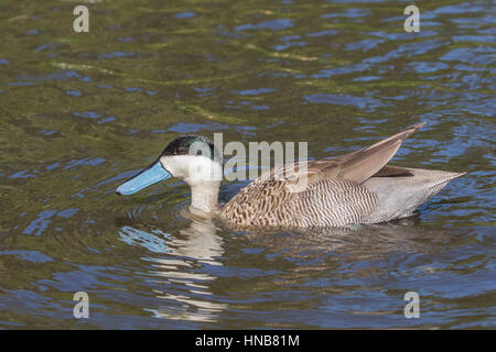
<instances>
[{"instance_id":1,"label":"duck's head with black cap, white cheek and blue bill","mask_svg":"<svg viewBox=\"0 0 496 352\"><path fill-rule=\"evenodd\" d=\"M214 143L204 136L186 135L173 140L159 158L120 185L116 193L132 195L170 177L177 177L190 186L220 183L223 168Z\"/></svg>"}]
</instances>

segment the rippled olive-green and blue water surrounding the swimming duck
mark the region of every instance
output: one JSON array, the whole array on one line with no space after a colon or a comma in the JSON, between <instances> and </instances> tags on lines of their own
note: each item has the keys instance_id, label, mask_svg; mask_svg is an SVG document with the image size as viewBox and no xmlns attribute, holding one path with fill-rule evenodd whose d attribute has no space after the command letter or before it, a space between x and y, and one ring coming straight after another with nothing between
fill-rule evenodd
<instances>
[{"instance_id":1,"label":"rippled olive-green and blue water surrounding the swimming duck","mask_svg":"<svg viewBox=\"0 0 496 352\"><path fill-rule=\"evenodd\" d=\"M78 2L0 4L1 328L495 328L494 1L419 33L407 2L93 2L87 34ZM114 193L180 134L320 158L420 121L393 163L467 175L405 221L233 232L177 180Z\"/></svg>"}]
</instances>

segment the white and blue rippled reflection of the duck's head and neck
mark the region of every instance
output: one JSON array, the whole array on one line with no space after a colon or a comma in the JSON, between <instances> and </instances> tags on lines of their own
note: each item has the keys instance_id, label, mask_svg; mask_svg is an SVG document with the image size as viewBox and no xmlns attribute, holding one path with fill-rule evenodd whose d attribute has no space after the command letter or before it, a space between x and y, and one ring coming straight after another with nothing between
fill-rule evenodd
<instances>
[{"instance_id":1,"label":"white and blue rippled reflection of the duck's head and neck","mask_svg":"<svg viewBox=\"0 0 496 352\"><path fill-rule=\"evenodd\" d=\"M176 235L129 224L120 228L119 235L129 244L139 244L152 253L160 253L144 260L153 263L149 273L154 283L161 283L154 285L153 295L163 299L164 304L145 310L158 318L217 321L218 314L227 305L213 298L211 283L217 277L208 270L200 268L203 265L206 268L208 265L223 265L217 260L224 254L223 239L217 235L216 227L209 219L194 217L190 227Z\"/></svg>"}]
</instances>

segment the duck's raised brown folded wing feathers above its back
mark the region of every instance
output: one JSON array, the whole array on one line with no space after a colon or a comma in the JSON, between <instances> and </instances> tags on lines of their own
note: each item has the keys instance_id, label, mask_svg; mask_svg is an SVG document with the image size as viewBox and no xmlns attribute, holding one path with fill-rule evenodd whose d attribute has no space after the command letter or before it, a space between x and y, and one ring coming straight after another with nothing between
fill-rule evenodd
<instances>
[{"instance_id":1,"label":"duck's raised brown folded wing feathers above its back","mask_svg":"<svg viewBox=\"0 0 496 352\"><path fill-rule=\"evenodd\" d=\"M323 179L347 179L362 184L371 176L393 176L408 174L408 169L386 165L396 154L401 143L423 127L418 123L388 139L359 151L322 161L299 162L274 168L268 178L284 179L293 191L303 191L308 186Z\"/></svg>"}]
</instances>

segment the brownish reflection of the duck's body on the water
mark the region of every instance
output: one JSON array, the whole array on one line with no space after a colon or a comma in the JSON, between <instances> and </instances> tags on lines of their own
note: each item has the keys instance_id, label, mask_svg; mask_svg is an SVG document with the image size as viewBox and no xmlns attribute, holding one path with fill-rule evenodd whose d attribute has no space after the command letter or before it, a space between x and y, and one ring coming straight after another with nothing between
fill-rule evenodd
<instances>
[{"instance_id":1,"label":"brownish reflection of the duck's body on the water","mask_svg":"<svg viewBox=\"0 0 496 352\"><path fill-rule=\"evenodd\" d=\"M336 262L359 262L385 258L398 253L428 255L468 232L422 226L419 222L417 218L409 218L342 228L249 231L244 238L249 240L251 246L262 248L266 253L284 257L304 258L309 262L323 257Z\"/></svg>"}]
</instances>

